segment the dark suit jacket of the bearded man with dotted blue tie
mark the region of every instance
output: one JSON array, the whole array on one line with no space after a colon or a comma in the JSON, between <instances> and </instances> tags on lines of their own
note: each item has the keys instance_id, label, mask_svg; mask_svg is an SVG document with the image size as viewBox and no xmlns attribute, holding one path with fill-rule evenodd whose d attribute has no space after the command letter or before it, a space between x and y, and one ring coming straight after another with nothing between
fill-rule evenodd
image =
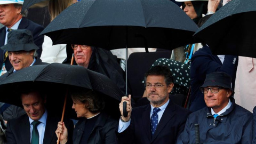
<instances>
[{"instance_id":1,"label":"dark suit jacket of the bearded man with dotted blue tie","mask_svg":"<svg viewBox=\"0 0 256 144\"><path fill-rule=\"evenodd\" d=\"M134 108L130 126L122 133L117 133L119 143L175 143L178 135L184 130L190 111L175 105L167 105L160 119L155 134L150 134L150 104Z\"/></svg>"}]
</instances>

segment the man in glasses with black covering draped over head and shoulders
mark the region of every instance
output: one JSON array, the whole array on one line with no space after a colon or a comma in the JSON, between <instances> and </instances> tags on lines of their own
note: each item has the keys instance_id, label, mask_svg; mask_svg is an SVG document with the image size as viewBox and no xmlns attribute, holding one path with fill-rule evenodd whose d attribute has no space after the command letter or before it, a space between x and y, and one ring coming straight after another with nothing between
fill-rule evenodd
<instances>
[{"instance_id":1,"label":"man in glasses with black covering draped over head and shoulders","mask_svg":"<svg viewBox=\"0 0 256 144\"><path fill-rule=\"evenodd\" d=\"M89 45L72 44L71 47L78 66L106 75L125 93L125 73L115 55L110 51Z\"/></svg>"}]
</instances>

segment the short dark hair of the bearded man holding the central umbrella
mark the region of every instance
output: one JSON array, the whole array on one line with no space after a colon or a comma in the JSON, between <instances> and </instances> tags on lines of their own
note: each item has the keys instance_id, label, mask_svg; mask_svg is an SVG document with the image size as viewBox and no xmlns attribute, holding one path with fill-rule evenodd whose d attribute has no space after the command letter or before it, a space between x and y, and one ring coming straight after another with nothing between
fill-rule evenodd
<instances>
[{"instance_id":1,"label":"short dark hair of the bearded man holding the central umbrella","mask_svg":"<svg viewBox=\"0 0 256 144\"><path fill-rule=\"evenodd\" d=\"M144 81L145 83L149 75L164 76L165 83L167 85L173 83L172 72L166 66L157 65L157 66L151 67L151 69L149 69L145 74L145 81Z\"/></svg>"}]
</instances>

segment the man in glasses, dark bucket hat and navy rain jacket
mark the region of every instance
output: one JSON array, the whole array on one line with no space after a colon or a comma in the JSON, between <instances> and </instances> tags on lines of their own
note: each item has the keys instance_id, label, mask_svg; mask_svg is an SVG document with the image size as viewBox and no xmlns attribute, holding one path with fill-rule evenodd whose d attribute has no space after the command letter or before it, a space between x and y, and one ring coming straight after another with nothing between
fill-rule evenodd
<instances>
[{"instance_id":1,"label":"man in glasses, dark bucket hat and navy rain jacket","mask_svg":"<svg viewBox=\"0 0 256 144\"><path fill-rule=\"evenodd\" d=\"M205 108L190 114L177 143L195 143L195 124L199 124L199 143L252 143L252 113L231 97L231 77L223 72L206 75L200 87Z\"/></svg>"}]
</instances>

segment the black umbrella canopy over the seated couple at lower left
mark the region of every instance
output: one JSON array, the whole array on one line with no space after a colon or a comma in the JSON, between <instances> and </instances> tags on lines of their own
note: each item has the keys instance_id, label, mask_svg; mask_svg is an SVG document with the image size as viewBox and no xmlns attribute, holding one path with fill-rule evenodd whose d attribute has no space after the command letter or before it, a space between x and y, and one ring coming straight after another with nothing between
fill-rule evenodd
<instances>
[{"instance_id":1,"label":"black umbrella canopy over the seated couple at lower left","mask_svg":"<svg viewBox=\"0 0 256 144\"><path fill-rule=\"evenodd\" d=\"M66 92L74 87L97 91L106 101L106 111L119 114L118 105L123 92L105 75L81 66L70 66L61 63L36 65L23 68L0 81L0 89L4 90L1 102L21 106L20 91L36 87L47 93L47 107L61 114ZM72 101L67 99L68 117L76 118L71 109ZM73 114L71 114L71 113ZM118 115L119 116L119 115Z\"/></svg>"}]
</instances>

